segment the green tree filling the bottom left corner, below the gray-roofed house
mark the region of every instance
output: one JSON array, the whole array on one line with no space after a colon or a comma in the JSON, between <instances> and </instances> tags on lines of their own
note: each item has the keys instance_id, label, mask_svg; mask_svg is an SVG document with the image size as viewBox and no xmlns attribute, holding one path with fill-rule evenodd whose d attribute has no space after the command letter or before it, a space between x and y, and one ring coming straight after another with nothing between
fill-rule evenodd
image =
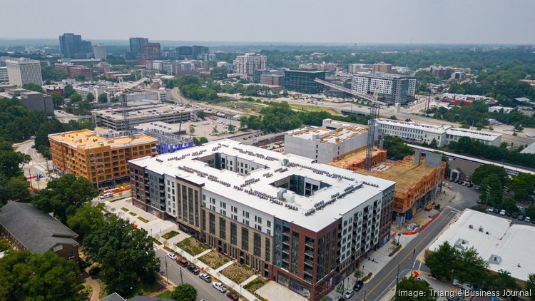
<instances>
[{"instance_id":1,"label":"green tree filling the bottom left corner, below the gray-roofed house","mask_svg":"<svg viewBox=\"0 0 535 301\"><path fill-rule=\"evenodd\" d=\"M0 259L1 300L68 300L76 291L78 268L54 252L9 251Z\"/></svg>"}]
</instances>

